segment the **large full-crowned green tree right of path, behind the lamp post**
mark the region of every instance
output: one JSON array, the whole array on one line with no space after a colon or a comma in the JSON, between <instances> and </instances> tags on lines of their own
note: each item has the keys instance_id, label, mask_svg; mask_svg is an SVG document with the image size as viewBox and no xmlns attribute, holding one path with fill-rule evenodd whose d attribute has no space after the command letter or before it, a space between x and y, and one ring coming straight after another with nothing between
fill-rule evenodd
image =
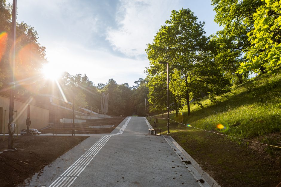
<instances>
[{"instance_id":1,"label":"large full-crowned green tree right of path, behind the lamp post","mask_svg":"<svg viewBox=\"0 0 281 187\"><path fill-rule=\"evenodd\" d=\"M196 56L207 41L204 36L204 22L197 23L197 17L189 9L173 10L170 17L171 19L166 21L168 26L161 26L153 43L148 44L146 52L151 65L151 71L148 70L148 72L153 75L154 69L161 67L158 64L161 61L169 63L173 71L172 78L180 79L179 81L183 83L178 84L182 85L181 87L173 87L174 84L171 84L171 91L173 94L182 92L181 96L187 101L190 115L189 101L192 98L193 84L190 84L188 80L194 77L193 67ZM163 72L161 68L159 70Z\"/></svg>"}]
</instances>

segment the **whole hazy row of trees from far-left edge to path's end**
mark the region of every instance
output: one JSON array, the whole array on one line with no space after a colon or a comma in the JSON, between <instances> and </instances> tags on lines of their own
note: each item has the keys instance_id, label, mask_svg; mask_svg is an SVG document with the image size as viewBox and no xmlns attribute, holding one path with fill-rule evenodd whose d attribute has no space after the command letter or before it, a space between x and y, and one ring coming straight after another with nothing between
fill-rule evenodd
<instances>
[{"instance_id":1,"label":"whole hazy row of trees from far-left edge to path's end","mask_svg":"<svg viewBox=\"0 0 281 187\"><path fill-rule=\"evenodd\" d=\"M12 5L0 0L0 94L9 96L10 38ZM74 107L101 109L102 92L109 93L109 115L145 115L145 98L148 94L147 81L140 78L135 86L117 84L109 79L106 84L94 85L86 75L70 75L64 72L56 80L45 80L41 74L45 58L45 47L38 42L38 33L25 22L16 24L16 67L15 98L28 98L37 93L65 97ZM61 89L61 91L60 91Z\"/></svg>"}]
</instances>

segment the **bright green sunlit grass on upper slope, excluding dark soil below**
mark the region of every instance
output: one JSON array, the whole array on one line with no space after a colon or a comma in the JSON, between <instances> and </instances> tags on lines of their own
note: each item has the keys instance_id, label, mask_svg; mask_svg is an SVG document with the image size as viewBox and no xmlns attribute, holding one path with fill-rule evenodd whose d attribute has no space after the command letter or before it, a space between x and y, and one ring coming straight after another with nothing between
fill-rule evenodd
<instances>
[{"instance_id":1,"label":"bright green sunlit grass on upper slope, excluding dark soil below","mask_svg":"<svg viewBox=\"0 0 281 187\"><path fill-rule=\"evenodd\" d=\"M204 98L201 103L190 104L191 115L187 115L187 106L183 113L184 124L213 130L239 138L253 138L281 130L281 70L275 75L262 75L237 86L231 93L216 97L216 102ZM157 115L167 118L167 113ZM173 119L173 114L170 114ZM179 117L175 117L179 121ZM165 120L167 123L167 120ZM161 120L160 120L161 123ZM163 122L164 123L164 122ZM173 127L171 121L171 126ZM225 128L218 129L222 124ZM165 132L164 132L165 133Z\"/></svg>"}]
</instances>

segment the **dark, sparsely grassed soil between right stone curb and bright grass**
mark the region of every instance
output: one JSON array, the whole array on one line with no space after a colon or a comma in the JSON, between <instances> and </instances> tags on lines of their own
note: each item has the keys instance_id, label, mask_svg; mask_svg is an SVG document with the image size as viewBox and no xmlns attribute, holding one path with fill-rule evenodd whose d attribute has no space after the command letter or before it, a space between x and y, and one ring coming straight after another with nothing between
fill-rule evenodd
<instances>
[{"instance_id":1,"label":"dark, sparsely grassed soil between right stone curb and bright grass","mask_svg":"<svg viewBox=\"0 0 281 187\"><path fill-rule=\"evenodd\" d=\"M281 182L280 148L231 141L197 130L183 129L169 136L221 186L276 187ZM275 145L280 146L280 139L275 141L279 141Z\"/></svg>"}]
</instances>

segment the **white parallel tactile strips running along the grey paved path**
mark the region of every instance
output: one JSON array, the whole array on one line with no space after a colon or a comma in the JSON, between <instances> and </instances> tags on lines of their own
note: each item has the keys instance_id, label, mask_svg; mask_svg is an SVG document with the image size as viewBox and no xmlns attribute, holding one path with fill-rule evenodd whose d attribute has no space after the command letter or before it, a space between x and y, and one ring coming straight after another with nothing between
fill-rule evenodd
<instances>
[{"instance_id":1,"label":"white parallel tactile strips running along the grey paved path","mask_svg":"<svg viewBox=\"0 0 281 187\"><path fill-rule=\"evenodd\" d=\"M90 149L88 149L88 151L86 151L80 158L78 158L49 187L71 186L74 180L77 179L77 177L93 160L93 158L97 155L101 148L103 148L109 138L115 135L120 135L124 132L131 118L132 117L129 117L127 119L122 128L116 134L102 136L100 140L97 141L97 143L95 143Z\"/></svg>"}]
</instances>

